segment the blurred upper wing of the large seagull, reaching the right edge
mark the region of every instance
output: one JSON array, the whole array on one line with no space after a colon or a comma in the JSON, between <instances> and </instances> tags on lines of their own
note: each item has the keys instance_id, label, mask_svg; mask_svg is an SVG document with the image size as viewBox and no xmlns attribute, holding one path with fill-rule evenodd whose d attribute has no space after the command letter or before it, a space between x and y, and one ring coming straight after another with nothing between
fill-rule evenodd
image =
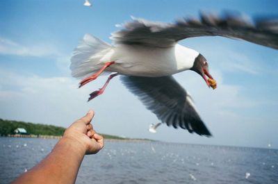
<instances>
[{"instance_id":1,"label":"blurred upper wing of the large seagull, reaching the right edge","mask_svg":"<svg viewBox=\"0 0 278 184\"><path fill-rule=\"evenodd\" d=\"M188 37L222 36L247 40L278 49L278 19L247 19L238 13L201 13L199 18L185 17L175 23L152 22L132 17L122 30L112 33L114 44L144 44L172 47Z\"/></svg>"}]
</instances>

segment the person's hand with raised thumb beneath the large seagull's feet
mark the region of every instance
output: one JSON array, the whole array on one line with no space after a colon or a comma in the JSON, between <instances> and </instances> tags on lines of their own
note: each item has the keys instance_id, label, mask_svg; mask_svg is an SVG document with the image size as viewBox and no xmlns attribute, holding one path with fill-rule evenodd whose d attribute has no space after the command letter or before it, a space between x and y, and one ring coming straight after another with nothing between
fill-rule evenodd
<instances>
[{"instance_id":1,"label":"person's hand with raised thumb beneath the large seagull's feet","mask_svg":"<svg viewBox=\"0 0 278 184\"><path fill-rule=\"evenodd\" d=\"M67 128L62 137L64 140L70 140L76 149L85 151L85 154L95 154L104 147L104 138L97 134L90 124L94 115L95 112L89 110L87 115Z\"/></svg>"}]
</instances>

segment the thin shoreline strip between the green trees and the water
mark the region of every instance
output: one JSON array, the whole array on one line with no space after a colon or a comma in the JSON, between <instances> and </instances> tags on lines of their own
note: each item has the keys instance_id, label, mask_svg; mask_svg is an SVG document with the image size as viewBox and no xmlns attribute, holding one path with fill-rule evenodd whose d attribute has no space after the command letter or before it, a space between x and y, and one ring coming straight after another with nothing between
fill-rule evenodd
<instances>
[{"instance_id":1,"label":"thin shoreline strip between the green trees and the water","mask_svg":"<svg viewBox=\"0 0 278 184\"><path fill-rule=\"evenodd\" d=\"M41 138L41 139L57 139L59 140L62 138L62 136L56 136L56 135L22 135L22 134L9 134L8 136L3 137L24 137L24 138ZM133 140L133 139L106 139L105 141L108 142L152 142L151 140Z\"/></svg>"}]
</instances>

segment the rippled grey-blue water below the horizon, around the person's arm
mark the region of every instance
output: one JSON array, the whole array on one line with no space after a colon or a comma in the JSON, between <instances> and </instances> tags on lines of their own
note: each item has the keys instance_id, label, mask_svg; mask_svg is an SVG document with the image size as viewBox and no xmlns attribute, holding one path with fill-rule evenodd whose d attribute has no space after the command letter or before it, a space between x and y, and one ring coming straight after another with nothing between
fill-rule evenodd
<instances>
[{"instance_id":1,"label":"rippled grey-blue water below the horizon, around the person's arm","mask_svg":"<svg viewBox=\"0 0 278 184\"><path fill-rule=\"evenodd\" d=\"M31 169L57 141L1 137L0 183ZM278 183L278 150L106 142L85 156L76 183Z\"/></svg>"}]
</instances>

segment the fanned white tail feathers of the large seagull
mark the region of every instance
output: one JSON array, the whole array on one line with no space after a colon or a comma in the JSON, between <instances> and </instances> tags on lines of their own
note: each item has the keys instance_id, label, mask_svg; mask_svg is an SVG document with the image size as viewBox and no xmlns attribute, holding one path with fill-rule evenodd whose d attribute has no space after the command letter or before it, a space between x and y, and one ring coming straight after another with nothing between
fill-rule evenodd
<instances>
[{"instance_id":1,"label":"fanned white tail feathers of the large seagull","mask_svg":"<svg viewBox=\"0 0 278 184\"><path fill-rule=\"evenodd\" d=\"M74 49L70 69L72 76L85 78L95 74L104 63L109 62L106 57L113 46L88 33L79 42L81 44ZM108 73L111 72L102 72L101 74Z\"/></svg>"}]
</instances>

